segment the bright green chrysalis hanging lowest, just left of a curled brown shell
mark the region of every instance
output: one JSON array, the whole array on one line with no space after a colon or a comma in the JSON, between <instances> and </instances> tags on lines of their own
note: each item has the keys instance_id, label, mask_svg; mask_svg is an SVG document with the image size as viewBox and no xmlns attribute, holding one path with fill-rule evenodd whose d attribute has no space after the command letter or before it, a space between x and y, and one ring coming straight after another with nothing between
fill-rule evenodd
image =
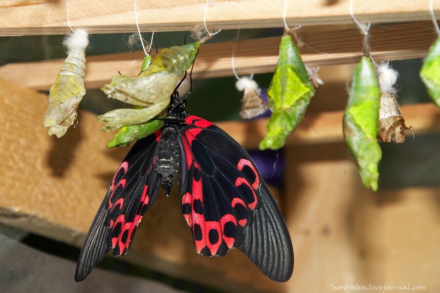
<instances>
[{"instance_id":1,"label":"bright green chrysalis hanging lowest, just left of a curled brown shell","mask_svg":"<svg viewBox=\"0 0 440 293\"><path fill-rule=\"evenodd\" d=\"M370 58L364 56L352 77L343 130L362 183L373 190L377 190L377 165L382 157L377 142L379 106L379 83Z\"/></svg>"}]
</instances>

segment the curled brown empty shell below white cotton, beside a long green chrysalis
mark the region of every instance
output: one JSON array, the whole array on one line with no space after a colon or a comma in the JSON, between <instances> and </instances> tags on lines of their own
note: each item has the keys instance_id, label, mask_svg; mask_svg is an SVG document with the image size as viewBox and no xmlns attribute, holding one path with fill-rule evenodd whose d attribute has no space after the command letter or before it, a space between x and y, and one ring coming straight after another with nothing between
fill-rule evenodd
<instances>
[{"instance_id":1,"label":"curled brown empty shell below white cotton, beside a long green chrysalis","mask_svg":"<svg viewBox=\"0 0 440 293\"><path fill-rule=\"evenodd\" d=\"M396 96L389 92L382 92L380 96L379 109L379 133L377 140L380 143L403 143L405 141L405 130L412 127L405 125Z\"/></svg>"}]
</instances>

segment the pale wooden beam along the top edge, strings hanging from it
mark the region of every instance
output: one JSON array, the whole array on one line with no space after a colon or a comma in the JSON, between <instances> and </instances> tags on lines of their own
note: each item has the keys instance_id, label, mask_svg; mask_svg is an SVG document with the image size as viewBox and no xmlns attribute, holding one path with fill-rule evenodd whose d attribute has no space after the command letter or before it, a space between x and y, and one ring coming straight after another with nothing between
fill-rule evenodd
<instances>
[{"instance_id":1,"label":"pale wooden beam along the top edge, strings hanging from it","mask_svg":"<svg viewBox=\"0 0 440 293\"><path fill-rule=\"evenodd\" d=\"M282 27L284 0L212 0L206 21L222 29ZM142 31L190 30L203 20L205 0L143 0L138 2ZM440 4L435 3L436 12ZM69 1L69 19L73 27L91 33L133 32L132 0ZM356 1L354 12L359 21L401 22L429 20L424 1ZM55 0L3 0L0 4L0 36L66 34L66 3ZM36 17L38 16L38 17ZM289 0L286 8L289 24L340 24L353 21L349 0Z\"/></svg>"}]
</instances>

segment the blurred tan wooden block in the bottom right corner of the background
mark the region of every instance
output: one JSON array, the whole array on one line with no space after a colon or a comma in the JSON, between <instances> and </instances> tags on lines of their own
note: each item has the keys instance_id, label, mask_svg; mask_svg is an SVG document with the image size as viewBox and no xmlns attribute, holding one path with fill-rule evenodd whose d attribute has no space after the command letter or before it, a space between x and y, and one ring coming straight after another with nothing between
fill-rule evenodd
<instances>
[{"instance_id":1,"label":"blurred tan wooden block in the bottom right corner of the background","mask_svg":"<svg viewBox=\"0 0 440 293\"><path fill-rule=\"evenodd\" d=\"M408 188L378 196L380 253L387 284L440 292L440 188ZM420 290L421 292L422 290Z\"/></svg>"}]
</instances>

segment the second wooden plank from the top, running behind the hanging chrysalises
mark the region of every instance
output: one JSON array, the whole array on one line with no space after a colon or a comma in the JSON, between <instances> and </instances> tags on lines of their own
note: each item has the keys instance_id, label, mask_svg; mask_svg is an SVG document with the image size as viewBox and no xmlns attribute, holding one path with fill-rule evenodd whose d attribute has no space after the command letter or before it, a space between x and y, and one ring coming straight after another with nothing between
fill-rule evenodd
<instances>
[{"instance_id":1,"label":"second wooden plank from the top, running behind the hanging chrysalises","mask_svg":"<svg viewBox=\"0 0 440 293\"><path fill-rule=\"evenodd\" d=\"M387 61L420 58L426 55L436 34L426 26L430 22L409 22L372 29L371 48L374 60ZM358 29L304 33L309 46L300 48L304 62L309 66L356 63L363 54L362 36ZM237 43L235 67L238 74L273 72L278 61L280 37L247 40ZM214 78L232 76L231 54L234 42L201 46L193 77ZM120 71L135 76L139 73L144 53L118 53L88 56L85 76L86 88L99 88ZM0 67L0 78L20 83L32 89L48 90L57 76L61 59L41 62L11 63ZM333 75L325 78L332 81Z\"/></svg>"}]
</instances>

